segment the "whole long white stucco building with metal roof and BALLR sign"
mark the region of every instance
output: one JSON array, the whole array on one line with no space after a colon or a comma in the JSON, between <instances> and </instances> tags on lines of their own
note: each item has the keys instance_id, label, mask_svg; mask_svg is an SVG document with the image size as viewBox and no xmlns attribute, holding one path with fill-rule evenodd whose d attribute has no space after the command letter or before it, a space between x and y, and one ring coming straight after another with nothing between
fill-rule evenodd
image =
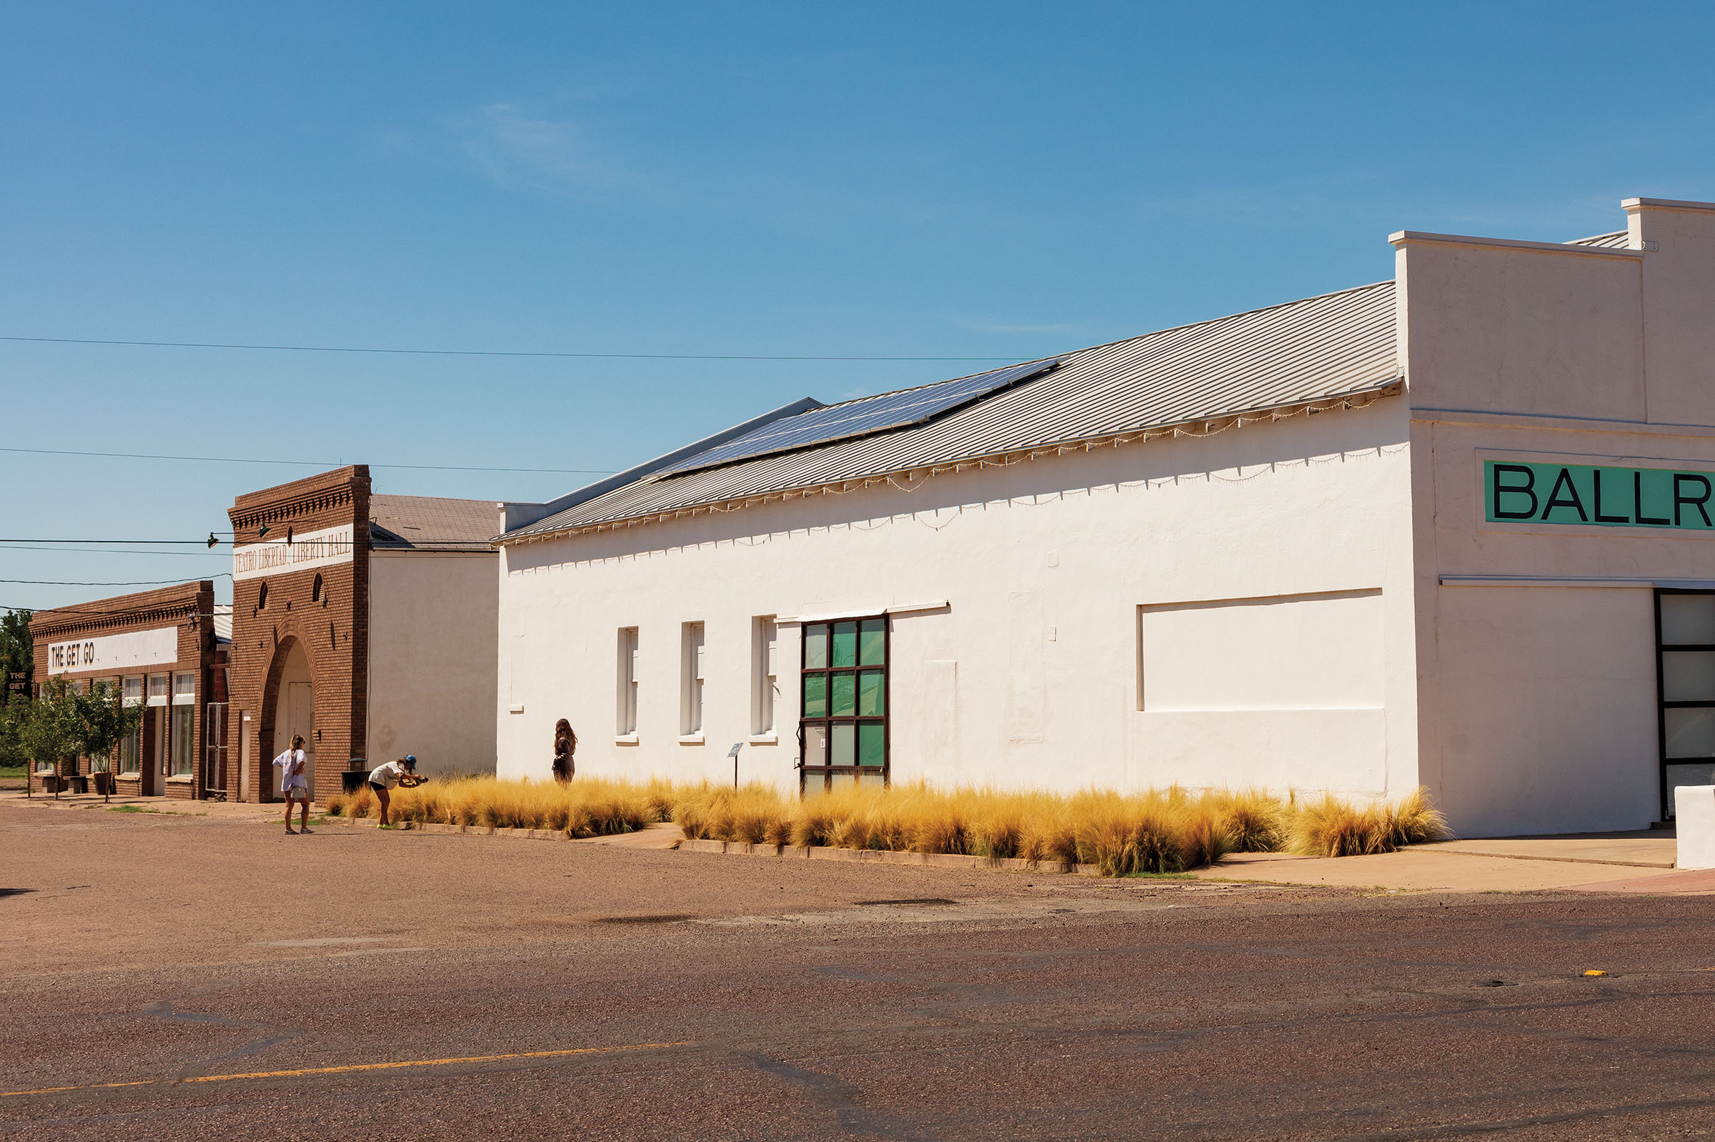
<instances>
[{"instance_id":1,"label":"whole long white stucco building with metal roof and BALLR sign","mask_svg":"<svg viewBox=\"0 0 1715 1142\"><path fill-rule=\"evenodd\" d=\"M1715 206L502 504L499 772L1401 796L1638 828L1715 772Z\"/></svg>"}]
</instances>

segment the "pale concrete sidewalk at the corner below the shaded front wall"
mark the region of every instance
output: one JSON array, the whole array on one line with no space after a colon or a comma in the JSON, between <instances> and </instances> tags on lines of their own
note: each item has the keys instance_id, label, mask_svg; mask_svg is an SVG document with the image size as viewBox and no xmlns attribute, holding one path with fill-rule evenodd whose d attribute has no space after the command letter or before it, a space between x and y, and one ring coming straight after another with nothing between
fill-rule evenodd
<instances>
[{"instance_id":1,"label":"pale concrete sidewalk at the corner below the shaded front wall","mask_svg":"<svg viewBox=\"0 0 1715 1142\"><path fill-rule=\"evenodd\" d=\"M1674 871L1672 830L1444 840L1360 857L1238 852L1206 880L1387 892L1715 893L1715 871Z\"/></svg>"}]
</instances>

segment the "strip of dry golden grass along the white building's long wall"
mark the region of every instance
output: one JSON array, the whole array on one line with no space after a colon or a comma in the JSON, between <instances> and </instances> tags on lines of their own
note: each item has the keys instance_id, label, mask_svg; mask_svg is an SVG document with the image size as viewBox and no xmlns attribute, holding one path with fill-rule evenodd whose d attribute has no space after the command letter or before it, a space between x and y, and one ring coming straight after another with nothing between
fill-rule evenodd
<instances>
[{"instance_id":1,"label":"strip of dry golden grass along the white building's long wall","mask_svg":"<svg viewBox=\"0 0 1715 1142\"><path fill-rule=\"evenodd\" d=\"M331 816L376 816L367 787L329 797ZM1300 802L1259 789L1144 794L940 790L924 782L892 789L847 785L809 801L770 785L648 785L580 777L499 782L430 780L393 792L393 816L412 823L552 828L600 837L672 820L686 837L768 845L830 845L955 852L1092 864L1106 876L1178 873L1228 852L1288 849L1312 856L1389 852L1447 835L1427 790L1394 802L1353 806L1331 794Z\"/></svg>"}]
</instances>

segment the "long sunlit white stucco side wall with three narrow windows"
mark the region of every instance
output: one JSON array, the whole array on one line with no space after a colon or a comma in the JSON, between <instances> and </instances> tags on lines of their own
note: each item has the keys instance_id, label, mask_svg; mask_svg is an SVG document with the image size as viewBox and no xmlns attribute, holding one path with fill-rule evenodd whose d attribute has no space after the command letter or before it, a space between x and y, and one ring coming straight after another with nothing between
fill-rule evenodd
<instances>
[{"instance_id":1,"label":"long sunlit white stucco side wall with three narrow windows","mask_svg":"<svg viewBox=\"0 0 1715 1142\"><path fill-rule=\"evenodd\" d=\"M1405 403L1382 400L1207 439L971 470L909 492L511 545L499 569L499 772L547 775L554 720L568 717L580 773L731 780L727 749L749 741L755 616L945 602L892 619L895 782L1408 790L1405 436ZM1146 701L1142 614L1213 604L1219 614L1207 621L1245 655L1247 616L1267 612L1271 629L1290 631L1297 619L1283 626L1274 619L1286 612L1273 609L1291 604L1276 597L1327 593L1374 604L1327 609L1314 653L1355 655L1381 681L1324 670L1298 696L1262 688L1242 708ZM703 744L679 741L681 624L691 621L705 622L707 640ZM619 744L617 631L633 626L638 734ZM1182 628L1149 634L1149 653L1188 670L1209 628ZM1278 658L1290 643L1279 629L1264 672L1297 665ZM746 744L746 778L796 785L797 665L799 628L782 622L779 744ZM1255 674L1249 660L1233 669Z\"/></svg>"}]
</instances>

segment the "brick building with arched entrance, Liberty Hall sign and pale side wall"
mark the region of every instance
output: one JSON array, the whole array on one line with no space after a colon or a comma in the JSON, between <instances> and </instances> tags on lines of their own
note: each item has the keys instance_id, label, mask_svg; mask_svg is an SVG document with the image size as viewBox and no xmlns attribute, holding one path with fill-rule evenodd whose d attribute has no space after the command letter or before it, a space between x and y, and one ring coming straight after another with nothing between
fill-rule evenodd
<instances>
[{"instance_id":1,"label":"brick building with arched entrance, Liberty Hall sign and pale side wall","mask_svg":"<svg viewBox=\"0 0 1715 1142\"><path fill-rule=\"evenodd\" d=\"M374 496L352 465L240 496L228 516L235 797L278 796L271 761L293 734L316 801L355 760L494 770L492 502Z\"/></svg>"}]
</instances>

